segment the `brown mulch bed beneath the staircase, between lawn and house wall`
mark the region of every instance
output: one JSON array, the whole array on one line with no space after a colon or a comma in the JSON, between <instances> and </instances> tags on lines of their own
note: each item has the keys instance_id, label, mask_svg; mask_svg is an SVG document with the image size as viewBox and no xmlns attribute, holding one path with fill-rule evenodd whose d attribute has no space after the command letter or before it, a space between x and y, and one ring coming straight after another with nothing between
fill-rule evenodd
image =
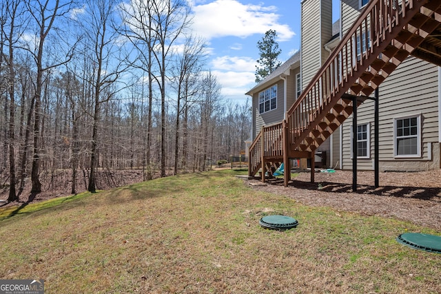
<instances>
[{"instance_id":1,"label":"brown mulch bed beneath the staircase, between lawn and house wall","mask_svg":"<svg viewBox=\"0 0 441 294\"><path fill-rule=\"evenodd\" d=\"M441 170L421 172L382 172L380 187L374 187L373 171L358 171L357 191L352 191L352 171L333 174L302 172L283 186L283 178L267 180L267 185L252 189L289 196L311 206L332 207L366 216L382 216L408 220L433 229L441 229Z\"/></svg>"}]
</instances>

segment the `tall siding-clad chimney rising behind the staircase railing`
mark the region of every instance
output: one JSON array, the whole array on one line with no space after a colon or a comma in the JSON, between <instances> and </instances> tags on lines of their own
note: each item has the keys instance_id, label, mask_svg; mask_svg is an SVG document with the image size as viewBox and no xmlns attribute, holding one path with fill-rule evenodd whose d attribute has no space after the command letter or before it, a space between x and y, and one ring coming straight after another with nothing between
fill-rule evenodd
<instances>
[{"instance_id":1,"label":"tall siding-clad chimney rising behind the staircase railing","mask_svg":"<svg viewBox=\"0 0 441 294\"><path fill-rule=\"evenodd\" d=\"M331 39L332 9L331 0L307 0L302 2L301 21L301 68L302 89L318 72L327 58L323 45ZM319 36L319 37L318 37Z\"/></svg>"}]
</instances>

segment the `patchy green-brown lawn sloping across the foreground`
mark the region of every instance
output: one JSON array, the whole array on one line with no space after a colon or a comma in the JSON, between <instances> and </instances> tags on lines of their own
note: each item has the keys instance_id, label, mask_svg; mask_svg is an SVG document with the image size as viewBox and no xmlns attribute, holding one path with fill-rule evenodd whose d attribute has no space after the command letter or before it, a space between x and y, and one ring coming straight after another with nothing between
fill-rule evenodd
<instances>
[{"instance_id":1,"label":"patchy green-brown lawn sloping across the foreground","mask_svg":"<svg viewBox=\"0 0 441 294\"><path fill-rule=\"evenodd\" d=\"M441 255L396 242L440 232L256 192L237 173L0 209L0 279L44 279L45 293L441 293ZM270 214L299 225L261 228Z\"/></svg>"}]
</instances>

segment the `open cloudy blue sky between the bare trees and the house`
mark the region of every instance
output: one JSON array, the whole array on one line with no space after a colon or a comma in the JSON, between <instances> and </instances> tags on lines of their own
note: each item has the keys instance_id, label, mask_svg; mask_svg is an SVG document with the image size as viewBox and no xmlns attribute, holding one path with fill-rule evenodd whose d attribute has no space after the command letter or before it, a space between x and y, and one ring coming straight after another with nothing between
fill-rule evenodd
<instances>
[{"instance_id":1,"label":"open cloudy blue sky between the bare trees and the house","mask_svg":"<svg viewBox=\"0 0 441 294\"><path fill-rule=\"evenodd\" d=\"M276 30L282 62L300 49L300 0L189 0L193 30L209 47L209 70L222 87L221 95L245 103L245 93L256 85L257 42ZM338 2L333 0L334 21Z\"/></svg>"}]
</instances>

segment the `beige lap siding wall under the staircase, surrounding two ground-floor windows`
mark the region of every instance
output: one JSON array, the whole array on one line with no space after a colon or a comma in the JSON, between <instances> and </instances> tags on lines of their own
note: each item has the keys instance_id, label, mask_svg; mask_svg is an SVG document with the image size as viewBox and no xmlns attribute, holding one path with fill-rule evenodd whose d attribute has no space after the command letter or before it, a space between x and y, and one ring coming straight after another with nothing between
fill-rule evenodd
<instances>
[{"instance_id":1,"label":"beige lap siding wall under the staircase, surrounding two ground-floor windows","mask_svg":"<svg viewBox=\"0 0 441 294\"><path fill-rule=\"evenodd\" d=\"M416 171L439 168L438 151L438 67L409 57L380 85L380 170ZM419 158L394 158L394 118L420 115L421 156ZM343 125L343 168L351 169L351 121ZM366 101L358 108L358 125L370 123L371 158L358 159L358 169L373 169L373 102ZM432 145L433 157L429 154ZM436 152L435 149L436 148Z\"/></svg>"}]
</instances>

